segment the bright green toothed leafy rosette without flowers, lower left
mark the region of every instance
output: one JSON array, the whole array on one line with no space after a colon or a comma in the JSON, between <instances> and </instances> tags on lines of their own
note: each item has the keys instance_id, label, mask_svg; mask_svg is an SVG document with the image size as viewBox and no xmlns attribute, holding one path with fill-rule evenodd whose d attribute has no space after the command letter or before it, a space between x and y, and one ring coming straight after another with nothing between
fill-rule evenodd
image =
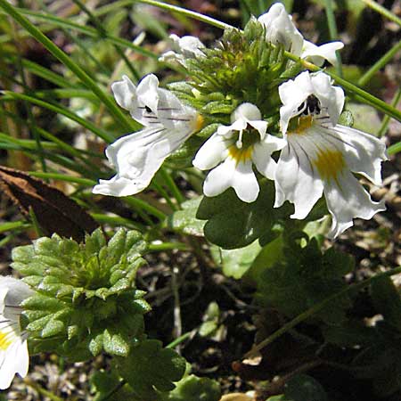
<instances>
[{"instance_id":1,"label":"bright green toothed leafy rosette without flowers, lower left","mask_svg":"<svg viewBox=\"0 0 401 401\"><path fill-rule=\"evenodd\" d=\"M37 290L22 304L32 350L74 360L102 350L126 356L150 309L135 288L146 248L140 233L125 230L108 243L96 230L81 244L54 234L15 248L12 267Z\"/></svg>"}]
</instances>

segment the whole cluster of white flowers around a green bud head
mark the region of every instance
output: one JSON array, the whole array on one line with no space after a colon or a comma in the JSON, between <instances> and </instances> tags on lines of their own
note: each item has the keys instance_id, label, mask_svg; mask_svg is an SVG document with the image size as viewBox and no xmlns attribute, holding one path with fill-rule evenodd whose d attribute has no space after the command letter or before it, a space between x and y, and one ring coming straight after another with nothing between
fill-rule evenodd
<instances>
[{"instance_id":1,"label":"whole cluster of white flowers around a green bud head","mask_svg":"<svg viewBox=\"0 0 401 401\"><path fill-rule=\"evenodd\" d=\"M196 37L171 37L174 50L163 54L161 61L177 61L188 71L193 85L191 81L183 83L184 91L161 89L154 75L144 77L138 86L127 77L113 84L116 101L143 125L143 130L107 148L106 155L117 175L109 181L101 180L94 193L126 196L142 191L163 161L207 121L215 123L216 129L192 161L194 167L210 170L203 184L206 196L232 187L241 201L256 201L260 174L274 180L274 207L290 201L295 209L291 217L304 219L324 194L332 219L328 235L335 238L353 224L353 218L369 219L385 209L383 202L371 200L354 176L356 173L381 184L385 146L371 135L339 124L345 96L328 75L323 71L301 72L301 64L282 61L285 50L318 66L324 61L335 64L341 42L314 45L307 41L282 4L273 4L250 24L243 34L235 31L231 38L230 33L225 35L217 44L220 53L213 53ZM256 31L258 35L252 34ZM233 45L232 38L238 36L240 45ZM247 45L243 45L244 40ZM226 50L235 45L241 51ZM247 49L253 52L248 58ZM265 49L274 49L275 53L265 54ZM255 53L260 55L260 62L253 62ZM239 65L239 57L245 67ZM219 63L225 69L223 75L215 70ZM253 69L248 75L247 63ZM201 78L194 76L196 66L207 65L213 65L213 70L198 68ZM207 76L208 82L203 84L201 79ZM224 79L219 83L221 77ZM225 83L233 77L234 85L227 85L225 91ZM247 87L248 83L258 86L267 77L270 81L262 89ZM212 86L215 92L209 89Z\"/></svg>"}]
</instances>

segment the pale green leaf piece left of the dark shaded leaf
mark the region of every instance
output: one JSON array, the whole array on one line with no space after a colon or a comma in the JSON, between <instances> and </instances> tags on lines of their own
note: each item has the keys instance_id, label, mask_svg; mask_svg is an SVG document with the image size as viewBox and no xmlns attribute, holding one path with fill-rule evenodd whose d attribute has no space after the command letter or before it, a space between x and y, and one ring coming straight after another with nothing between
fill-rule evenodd
<instances>
[{"instance_id":1,"label":"pale green leaf piece left of the dark shaded leaf","mask_svg":"<svg viewBox=\"0 0 401 401\"><path fill-rule=\"evenodd\" d=\"M168 217L168 227L171 230L188 235L203 236L205 222L196 218L196 212L201 203L201 197L182 203L182 210L177 210Z\"/></svg>"}]
</instances>

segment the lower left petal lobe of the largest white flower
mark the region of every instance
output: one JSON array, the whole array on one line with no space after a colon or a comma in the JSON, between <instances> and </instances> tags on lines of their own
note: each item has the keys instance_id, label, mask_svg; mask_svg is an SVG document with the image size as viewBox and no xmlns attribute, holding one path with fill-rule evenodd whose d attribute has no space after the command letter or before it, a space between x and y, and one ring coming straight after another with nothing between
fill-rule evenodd
<instances>
[{"instance_id":1,"label":"lower left petal lobe of the largest white flower","mask_svg":"<svg viewBox=\"0 0 401 401\"><path fill-rule=\"evenodd\" d=\"M305 218L322 196L323 183L313 168L307 143L289 136L288 145L282 150L275 173L276 196L274 208L284 201L294 203L292 218Z\"/></svg>"}]
</instances>

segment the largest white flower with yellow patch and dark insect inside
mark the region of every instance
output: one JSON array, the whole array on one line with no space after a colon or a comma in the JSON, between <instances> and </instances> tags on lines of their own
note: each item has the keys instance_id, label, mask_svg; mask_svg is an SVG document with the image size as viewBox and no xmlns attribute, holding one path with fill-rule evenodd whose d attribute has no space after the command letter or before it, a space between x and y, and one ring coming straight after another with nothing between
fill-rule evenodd
<instances>
[{"instance_id":1,"label":"largest white flower with yellow patch and dark insect inside","mask_svg":"<svg viewBox=\"0 0 401 401\"><path fill-rule=\"evenodd\" d=\"M294 203L292 218L305 218L324 193L332 217L331 238L384 210L352 173L381 184L385 145L372 135L337 124L344 92L323 72L302 72L279 86L280 124L287 146L278 161L274 207Z\"/></svg>"}]
</instances>

